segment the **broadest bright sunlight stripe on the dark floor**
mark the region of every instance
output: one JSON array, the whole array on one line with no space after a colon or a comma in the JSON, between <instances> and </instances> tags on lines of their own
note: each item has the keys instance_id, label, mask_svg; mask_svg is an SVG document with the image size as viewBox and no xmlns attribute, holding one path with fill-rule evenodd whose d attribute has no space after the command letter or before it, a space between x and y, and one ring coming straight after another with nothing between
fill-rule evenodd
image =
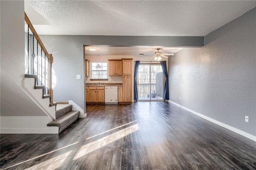
<instances>
[{"instance_id":1,"label":"broadest bright sunlight stripe on the dark floor","mask_svg":"<svg viewBox=\"0 0 256 170\"><path fill-rule=\"evenodd\" d=\"M114 132L108 136L105 136L103 138L100 138L98 140L90 142L88 144L85 144L78 150L78 152L74 156L73 160L81 158L82 156L85 156L86 154L89 154L103 146L106 146L116 140L119 140L119 139L123 138L124 136L132 134L133 132L136 132L139 129L140 129L140 127L138 124L132 125L130 127L127 127L127 128L121 129L117 132Z\"/></svg>"}]
</instances>

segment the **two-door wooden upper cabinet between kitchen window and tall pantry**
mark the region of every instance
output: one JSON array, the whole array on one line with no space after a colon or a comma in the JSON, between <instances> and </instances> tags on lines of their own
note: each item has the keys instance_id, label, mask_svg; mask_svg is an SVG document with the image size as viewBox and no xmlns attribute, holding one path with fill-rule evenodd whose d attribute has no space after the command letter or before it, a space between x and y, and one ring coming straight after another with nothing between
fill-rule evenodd
<instances>
[{"instance_id":1,"label":"two-door wooden upper cabinet between kitchen window and tall pantry","mask_svg":"<svg viewBox=\"0 0 256 170\"><path fill-rule=\"evenodd\" d=\"M109 59L108 67L108 75L122 76L122 59Z\"/></svg>"}]
</instances>

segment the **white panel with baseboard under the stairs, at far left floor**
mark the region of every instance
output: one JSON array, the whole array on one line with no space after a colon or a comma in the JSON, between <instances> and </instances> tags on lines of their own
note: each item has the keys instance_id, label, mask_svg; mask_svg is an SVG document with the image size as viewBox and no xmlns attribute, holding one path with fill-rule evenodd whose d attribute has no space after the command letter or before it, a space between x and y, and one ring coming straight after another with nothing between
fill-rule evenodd
<instances>
[{"instance_id":1,"label":"white panel with baseboard under the stairs, at far left floor","mask_svg":"<svg viewBox=\"0 0 256 170\"><path fill-rule=\"evenodd\" d=\"M58 134L58 127L47 127L48 116L1 116L0 133L6 134Z\"/></svg>"}]
</instances>

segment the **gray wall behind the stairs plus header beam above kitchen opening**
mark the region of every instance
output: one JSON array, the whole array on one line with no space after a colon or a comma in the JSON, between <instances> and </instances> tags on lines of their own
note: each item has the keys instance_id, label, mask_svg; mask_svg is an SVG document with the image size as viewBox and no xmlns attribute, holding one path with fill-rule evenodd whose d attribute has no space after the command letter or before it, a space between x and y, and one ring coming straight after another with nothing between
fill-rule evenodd
<instances>
[{"instance_id":1,"label":"gray wall behind the stairs plus header beam above kitchen opening","mask_svg":"<svg viewBox=\"0 0 256 170\"><path fill-rule=\"evenodd\" d=\"M53 69L57 84L54 101L74 101L84 108L84 80L76 79L77 74L84 75L83 45L162 45L201 47L203 37L155 37L155 36L52 36L40 35L48 53L54 57Z\"/></svg>"}]
</instances>

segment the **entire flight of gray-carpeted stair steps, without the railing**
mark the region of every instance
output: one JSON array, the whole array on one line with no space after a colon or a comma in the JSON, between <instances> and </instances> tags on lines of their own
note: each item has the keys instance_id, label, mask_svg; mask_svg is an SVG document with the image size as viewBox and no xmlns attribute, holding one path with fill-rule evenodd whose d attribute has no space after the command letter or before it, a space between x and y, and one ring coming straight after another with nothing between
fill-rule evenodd
<instances>
[{"instance_id":1,"label":"entire flight of gray-carpeted stair steps, without the railing","mask_svg":"<svg viewBox=\"0 0 256 170\"><path fill-rule=\"evenodd\" d=\"M55 115L52 115L51 113L50 114L46 113L48 116L54 119L53 121L47 124L48 127L58 127L58 133L60 133L62 132L62 130L64 130L66 127L68 127L70 124L72 124L74 121L76 121L79 118L80 111L72 111L72 105L57 105L56 102L51 102L52 95L46 94L44 92L46 90L46 87L43 85L36 85L37 75L25 74L25 78L34 79L34 84L33 84L34 89L35 90L42 89L41 99L49 99L48 107L55 107L54 109ZM27 86L24 85L24 87L26 88ZM36 97L38 96L34 96L34 98ZM36 101L39 101L39 100L36 100ZM45 106L42 105L42 107L45 107ZM47 108L44 111L47 112Z\"/></svg>"}]
</instances>

